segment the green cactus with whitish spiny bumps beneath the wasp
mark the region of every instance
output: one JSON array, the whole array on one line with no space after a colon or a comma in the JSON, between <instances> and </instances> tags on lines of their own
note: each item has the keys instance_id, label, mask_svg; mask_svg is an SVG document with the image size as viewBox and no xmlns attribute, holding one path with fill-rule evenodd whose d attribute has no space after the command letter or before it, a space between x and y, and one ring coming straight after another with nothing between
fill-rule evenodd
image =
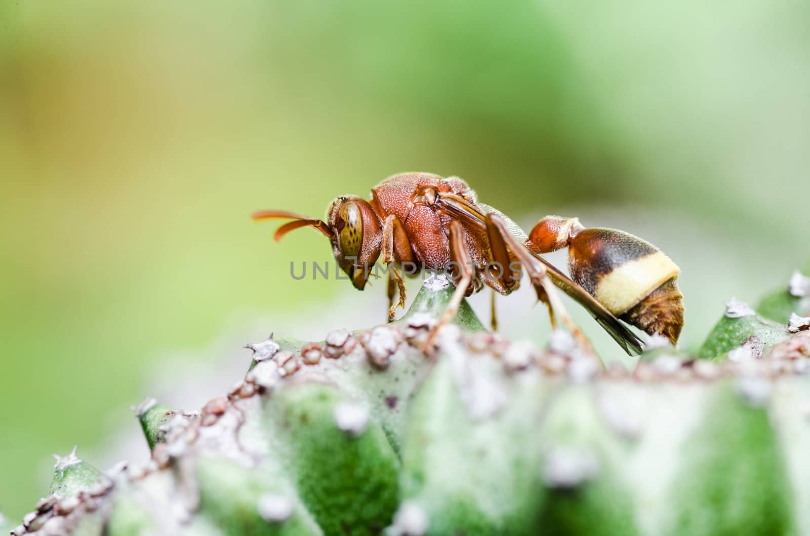
<instances>
[{"instance_id":1,"label":"green cactus with whitish spiny bumps beneath the wasp","mask_svg":"<svg viewBox=\"0 0 810 536\"><path fill-rule=\"evenodd\" d=\"M653 338L627 372L463 304L425 355L451 292L434 277L392 324L249 344L200 411L144 401L151 461L58 457L11 534L810 534L807 319L732 300L699 359Z\"/></svg>"}]
</instances>

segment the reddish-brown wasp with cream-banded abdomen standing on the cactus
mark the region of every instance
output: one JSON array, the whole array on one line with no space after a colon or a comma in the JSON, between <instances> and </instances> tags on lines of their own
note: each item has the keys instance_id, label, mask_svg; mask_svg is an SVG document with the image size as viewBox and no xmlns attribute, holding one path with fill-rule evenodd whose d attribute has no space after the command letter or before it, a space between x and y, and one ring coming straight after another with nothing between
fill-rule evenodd
<instances>
[{"instance_id":1,"label":"reddish-brown wasp with cream-banded abdomen standing on the cactus","mask_svg":"<svg viewBox=\"0 0 810 536\"><path fill-rule=\"evenodd\" d=\"M428 348L464 296L484 286L508 295L518 288L522 270L548 306L552 325L559 316L586 346L556 288L586 308L631 355L642 351L642 341L622 321L647 334L661 334L673 345L684 325L683 295L676 283L680 270L654 245L627 232L585 228L577 218L561 216L541 219L527 234L500 211L478 202L458 177L400 173L376 185L369 200L335 198L326 220L275 210L255 212L253 218L290 219L276 230L275 240L297 228L321 232L330 240L340 269L359 290L369 280L369 268L382 259L389 274L389 321L405 304L402 266L416 266L408 275L449 272L455 290L428 336ZM570 277L542 257L564 247L569 249ZM394 300L398 291L399 300ZM494 329L494 305L492 313Z\"/></svg>"}]
</instances>

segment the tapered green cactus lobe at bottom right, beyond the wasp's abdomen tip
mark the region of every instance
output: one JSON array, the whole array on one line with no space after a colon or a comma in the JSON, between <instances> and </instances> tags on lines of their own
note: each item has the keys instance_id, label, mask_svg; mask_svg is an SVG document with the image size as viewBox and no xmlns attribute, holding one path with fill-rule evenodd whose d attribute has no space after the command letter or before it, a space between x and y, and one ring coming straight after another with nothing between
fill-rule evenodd
<instances>
[{"instance_id":1,"label":"tapered green cactus lobe at bottom right, beyond the wasp's abdomen tip","mask_svg":"<svg viewBox=\"0 0 810 536\"><path fill-rule=\"evenodd\" d=\"M770 389L764 379L749 381L763 382L753 389ZM714 391L711 411L684 445L690 456L675 483L671 534L793 534L784 454L765 401L740 404L731 385Z\"/></svg>"}]
</instances>

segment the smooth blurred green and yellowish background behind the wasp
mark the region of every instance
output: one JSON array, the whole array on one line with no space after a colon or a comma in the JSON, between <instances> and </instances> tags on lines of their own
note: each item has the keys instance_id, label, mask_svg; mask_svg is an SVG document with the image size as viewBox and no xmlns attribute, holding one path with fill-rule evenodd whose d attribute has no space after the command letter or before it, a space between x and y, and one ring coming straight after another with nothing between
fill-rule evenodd
<instances>
[{"instance_id":1,"label":"smooth blurred green and yellowish background behind the wasp","mask_svg":"<svg viewBox=\"0 0 810 536\"><path fill-rule=\"evenodd\" d=\"M248 215L394 172L645 236L695 347L808 255L807 28L804 0L0 0L0 509L46 493L50 453L135 427L169 361L213 369L225 338L243 368L257 318L382 317L381 286L290 279L321 236ZM524 301L505 331L542 340Z\"/></svg>"}]
</instances>

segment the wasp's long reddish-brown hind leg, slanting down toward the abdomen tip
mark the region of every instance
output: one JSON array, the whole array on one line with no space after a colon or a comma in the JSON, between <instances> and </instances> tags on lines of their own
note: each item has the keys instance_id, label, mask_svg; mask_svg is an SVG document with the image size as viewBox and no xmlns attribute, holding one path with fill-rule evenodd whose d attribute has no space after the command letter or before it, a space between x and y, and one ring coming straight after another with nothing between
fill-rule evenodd
<instances>
[{"instance_id":1,"label":"wasp's long reddish-brown hind leg, slanting down toward the abdomen tip","mask_svg":"<svg viewBox=\"0 0 810 536\"><path fill-rule=\"evenodd\" d=\"M522 245L517 238L515 238L509 229L506 228L504 220L497 215L487 215L487 234L489 236L489 243L492 249L509 248L514 253L529 274L529 280L532 286L535 287L537 297L539 300L544 301L548 306L548 313L552 319L552 326L556 324L555 315L560 317L562 323L569 329L574 338L577 339L579 344L587 351L593 351L590 347L590 341L582 333L573 319L570 317L568 310L562 303L559 292L552 283L552 280L546 274L545 266L539 262L530 252Z\"/></svg>"}]
</instances>

